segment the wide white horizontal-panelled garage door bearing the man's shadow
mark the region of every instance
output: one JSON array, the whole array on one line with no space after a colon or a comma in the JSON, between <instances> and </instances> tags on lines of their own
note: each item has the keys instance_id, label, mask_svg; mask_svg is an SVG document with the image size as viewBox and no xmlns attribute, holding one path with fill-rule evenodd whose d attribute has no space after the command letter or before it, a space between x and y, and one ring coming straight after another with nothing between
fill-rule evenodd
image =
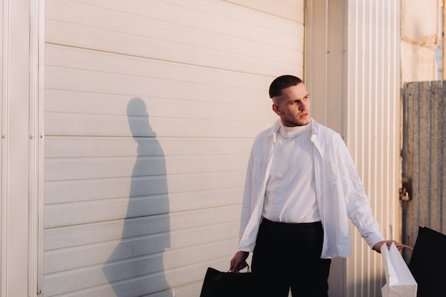
<instances>
[{"instance_id":1,"label":"wide white horizontal-panelled garage door bearing the man's shadow","mask_svg":"<svg viewBox=\"0 0 446 297\"><path fill-rule=\"evenodd\" d=\"M46 1L46 297L198 296L229 268L303 20L303 1Z\"/></svg>"}]
</instances>

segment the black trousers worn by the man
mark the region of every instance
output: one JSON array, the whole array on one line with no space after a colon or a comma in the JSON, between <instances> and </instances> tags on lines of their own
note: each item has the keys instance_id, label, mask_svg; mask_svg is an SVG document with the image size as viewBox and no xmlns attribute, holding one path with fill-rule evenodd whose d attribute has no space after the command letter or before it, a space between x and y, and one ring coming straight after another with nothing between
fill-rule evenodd
<instances>
[{"instance_id":1,"label":"black trousers worn by the man","mask_svg":"<svg viewBox=\"0 0 446 297\"><path fill-rule=\"evenodd\" d=\"M321 222L285 224L263 219L252 257L256 296L327 297L330 259L320 259ZM257 291L258 290L258 291Z\"/></svg>"}]
</instances>

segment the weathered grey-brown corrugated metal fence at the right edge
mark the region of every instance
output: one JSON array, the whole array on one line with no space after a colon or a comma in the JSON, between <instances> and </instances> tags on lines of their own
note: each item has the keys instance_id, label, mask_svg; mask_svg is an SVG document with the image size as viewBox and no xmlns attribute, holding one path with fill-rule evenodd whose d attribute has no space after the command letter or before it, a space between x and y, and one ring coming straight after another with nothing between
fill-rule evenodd
<instances>
[{"instance_id":1,"label":"weathered grey-brown corrugated metal fence at the right edge","mask_svg":"<svg viewBox=\"0 0 446 297\"><path fill-rule=\"evenodd\" d=\"M446 232L445 83L405 83L403 93L403 242L414 246L418 227ZM406 261L412 252L403 251Z\"/></svg>"}]
</instances>

